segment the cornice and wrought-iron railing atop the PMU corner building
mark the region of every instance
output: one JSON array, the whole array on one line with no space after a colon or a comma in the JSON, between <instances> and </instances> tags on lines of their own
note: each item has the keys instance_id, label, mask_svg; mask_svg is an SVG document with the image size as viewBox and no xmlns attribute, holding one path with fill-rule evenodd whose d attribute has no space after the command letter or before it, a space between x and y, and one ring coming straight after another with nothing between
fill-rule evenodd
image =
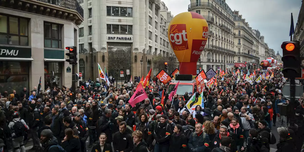
<instances>
[{"instance_id":1,"label":"cornice and wrought-iron railing atop the PMU corner building","mask_svg":"<svg viewBox=\"0 0 304 152\"><path fill-rule=\"evenodd\" d=\"M64 19L80 25L83 21L83 9L79 1L80 0L1 0L0 5L5 8Z\"/></svg>"}]
</instances>

